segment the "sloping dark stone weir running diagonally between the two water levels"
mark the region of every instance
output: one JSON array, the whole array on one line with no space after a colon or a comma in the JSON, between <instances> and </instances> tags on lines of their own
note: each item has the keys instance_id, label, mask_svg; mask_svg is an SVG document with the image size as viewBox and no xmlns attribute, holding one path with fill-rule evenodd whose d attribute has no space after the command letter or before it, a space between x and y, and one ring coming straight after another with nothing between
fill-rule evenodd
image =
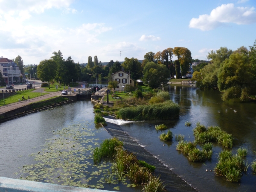
<instances>
[{"instance_id":1,"label":"sloping dark stone weir running diagonally between the two water levels","mask_svg":"<svg viewBox=\"0 0 256 192\"><path fill-rule=\"evenodd\" d=\"M105 119L111 119L109 116L105 116ZM113 118L112 118L113 119ZM160 175L161 181L163 181L167 186L165 187L169 192L196 192L192 186L189 186L184 180L178 177L174 172L172 172L168 167L160 162L156 157L150 154L142 146L140 146L132 137L130 137L119 125L108 122L105 129L112 137L118 138L124 143L124 148L134 153L138 160L143 160L150 165L156 167L154 173L155 175Z\"/></svg>"}]
</instances>

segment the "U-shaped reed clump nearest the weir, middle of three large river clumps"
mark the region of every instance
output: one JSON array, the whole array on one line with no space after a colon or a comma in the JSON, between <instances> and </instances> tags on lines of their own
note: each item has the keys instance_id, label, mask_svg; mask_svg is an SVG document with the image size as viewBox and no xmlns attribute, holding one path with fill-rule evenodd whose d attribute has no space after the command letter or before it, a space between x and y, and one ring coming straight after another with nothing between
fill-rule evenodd
<instances>
[{"instance_id":1,"label":"U-shaped reed clump nearest the weir, middle of three large river clumps","mask_svg":"<svg viewBox=\"0 0 256 192\"><path fill-rule=\"evenodd\" d=\"M190 161L205 161L212 157L212 143L206 143L202 150L196 148L196 143L180 140L176 145L176 150L188 155Z\"/></svg>"}]
</instances>

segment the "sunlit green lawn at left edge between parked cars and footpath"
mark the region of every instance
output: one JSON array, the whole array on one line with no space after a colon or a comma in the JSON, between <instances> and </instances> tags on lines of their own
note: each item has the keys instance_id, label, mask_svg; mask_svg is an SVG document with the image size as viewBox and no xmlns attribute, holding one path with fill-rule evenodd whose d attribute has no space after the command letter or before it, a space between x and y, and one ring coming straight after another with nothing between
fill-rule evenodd
<instances>
[{"instance_id":1,"label":"sunlit green lawn at left edge between parked cars and footpath","mask_svg":"<svg viewBox=\"0 0 256 192\"><path fill-rule=\"evenodd\" d=\"M13 96L9 96L9 97L4 99L5 100L5 105L10 104L10 103L18 102L19 99L21 100L22 96L24 96L24 98L26 100L28 99L28 97L30 99L32 99L32 98L41 96L41 93L32 92L33 90L34 89L18 91L17 94L15 94ZM42 95L46 95L46 94L49 94L49 93L42 93ZM0 99L0 106L3 106L3 99Z\"/></svg>"}]
</instances>

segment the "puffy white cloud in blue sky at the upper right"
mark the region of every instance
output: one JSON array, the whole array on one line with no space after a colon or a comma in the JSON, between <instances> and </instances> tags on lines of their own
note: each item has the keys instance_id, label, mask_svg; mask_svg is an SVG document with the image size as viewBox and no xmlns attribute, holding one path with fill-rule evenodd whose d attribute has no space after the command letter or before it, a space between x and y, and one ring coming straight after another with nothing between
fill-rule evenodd
<instances>
[{"instance_id":1,"label":"puffy white cloud in blue sky at the upper right","mask_svg":"<svg viewBox=\"0 0 256 192\"><path fill-rule=\"evenodd\" d=\"M213 9L210 15L199 15L199 18L192 18L189 28L208 31L215 29L225 23L251 24L256 22L254 7L235 7L233 3L223 4Z\"/></svg>"}]
</instances>

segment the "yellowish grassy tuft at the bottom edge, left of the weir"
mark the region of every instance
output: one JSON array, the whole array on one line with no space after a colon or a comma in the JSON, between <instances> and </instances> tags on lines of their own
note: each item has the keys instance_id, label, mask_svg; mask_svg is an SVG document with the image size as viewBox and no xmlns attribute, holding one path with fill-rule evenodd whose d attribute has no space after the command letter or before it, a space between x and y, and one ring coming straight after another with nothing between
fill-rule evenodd
<instances>
[{"instance_id":1,"label":"yellowish grassy tuft at the bottom edge, left of the weir","mask_svg":"<svg viewBox=\"0 0 256 192\"><path fill-rule=\"evenodd\" d=\"M144 192L163 192L166 185L163 185L160 177L151 176L143 186Z\"/></svg>"}]
</instances>

